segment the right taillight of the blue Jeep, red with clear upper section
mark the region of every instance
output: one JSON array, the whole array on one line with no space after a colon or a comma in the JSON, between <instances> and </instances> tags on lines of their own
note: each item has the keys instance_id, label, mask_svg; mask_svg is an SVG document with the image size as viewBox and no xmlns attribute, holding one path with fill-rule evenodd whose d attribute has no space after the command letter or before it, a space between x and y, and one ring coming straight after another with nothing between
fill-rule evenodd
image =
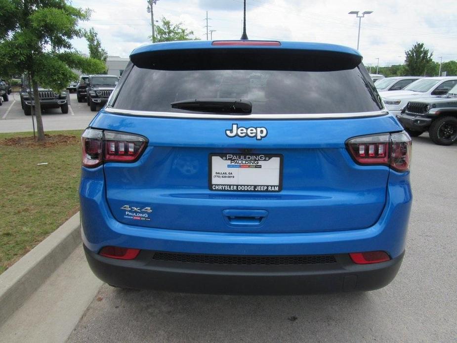
<instances>
[{"instance_id":1,"label":"right taillight of the blue Jeep, red with clear upper section","mask_svg":"<svg viewBox=\"0 0 457 343\"><path fill-rule=\"evenodd\" d=\"M360 165L389 166L407 172L411 164L411 138L406 132L359 136L346 142L347 149Z\"/></svg>"}]
</instances>

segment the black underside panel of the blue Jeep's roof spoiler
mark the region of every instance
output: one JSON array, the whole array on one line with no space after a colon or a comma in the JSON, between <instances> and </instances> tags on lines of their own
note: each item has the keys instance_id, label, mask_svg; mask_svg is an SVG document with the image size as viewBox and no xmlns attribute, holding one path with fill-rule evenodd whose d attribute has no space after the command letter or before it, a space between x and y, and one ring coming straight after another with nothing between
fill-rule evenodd
<instances>
[{"instance_id":1,"label":"black underside panel of the blue Jeep's roof spoiler","mask_svg":"<svg viewBox=\"0 0 457 343\"><path fill-rule=\"evenodd\" d=\"M158 49L132 53L130 59L139 68L158 70L337 71L362 62L362 56L347 52L279 46Z\"/></svg>"}]
</instances>

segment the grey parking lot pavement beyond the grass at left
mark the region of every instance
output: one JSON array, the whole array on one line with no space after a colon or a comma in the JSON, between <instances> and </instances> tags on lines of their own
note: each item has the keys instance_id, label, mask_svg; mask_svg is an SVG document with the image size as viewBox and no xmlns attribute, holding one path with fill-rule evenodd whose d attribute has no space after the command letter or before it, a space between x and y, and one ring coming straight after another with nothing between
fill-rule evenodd
<instances>
[{"instance_id":1,"label":"grey parking lot pavement beyond the grass at left","mask_svg":"<svg viewBox=\"0 0 457 343\"><path fill-rule=\"evenodd\" d=\"M70 108L62 114L60 108L51 108L43 112L44 131L85 129L95 116L85 102L79 103L76 93L70 94ZM11 93L9 101L0 106L0 132L32 131L32 117L24 115L19 93Z\"/></svg>"}]
</instances>

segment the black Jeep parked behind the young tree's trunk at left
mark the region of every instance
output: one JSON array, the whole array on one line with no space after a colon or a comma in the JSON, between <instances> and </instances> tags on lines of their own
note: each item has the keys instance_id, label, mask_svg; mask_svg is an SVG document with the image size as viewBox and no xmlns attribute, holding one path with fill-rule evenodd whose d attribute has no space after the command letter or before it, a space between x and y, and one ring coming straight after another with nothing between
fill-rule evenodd
<instances>
[{"instance_id":1,"label":"black Jeep parked behind the young tree's trunk at left","mask_svg":"<svg viewBox=\"0 0 457 343\"><path fill-rule=\"evenodd\" d=\"M31 97L29 96L29 92ZM67 93L61 92L56 93L52 89L46 89L42 87L38 87L38 94L40 97L40 106L43 109L46 108L59 108L61 109L62 113L68 113L68 102L67 102ZM27 78L22 79L21 84L21 106L24 110L24 114L26 116L30 116L32 114L32 106L34 102L34 95L33 95L33 88L29 86L29 81Z\"/></svg>"}]
</instances>

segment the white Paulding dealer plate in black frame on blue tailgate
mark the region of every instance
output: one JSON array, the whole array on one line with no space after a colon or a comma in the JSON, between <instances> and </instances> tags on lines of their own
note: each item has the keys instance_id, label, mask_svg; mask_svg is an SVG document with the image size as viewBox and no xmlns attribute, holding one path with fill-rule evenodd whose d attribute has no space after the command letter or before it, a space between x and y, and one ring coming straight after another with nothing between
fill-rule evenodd
<instances>
[{"instance_id":1,"label":"white Paulding dealer plate in black frame on blue tailgate","mask_svg":"<svg viewBox=\"0 0 457 343\"><path fill-rule=\"evenodd\" d=\"M231 192L279 192L283 155L209 154L209 189Z\"/></svg>"}]
</instances>

